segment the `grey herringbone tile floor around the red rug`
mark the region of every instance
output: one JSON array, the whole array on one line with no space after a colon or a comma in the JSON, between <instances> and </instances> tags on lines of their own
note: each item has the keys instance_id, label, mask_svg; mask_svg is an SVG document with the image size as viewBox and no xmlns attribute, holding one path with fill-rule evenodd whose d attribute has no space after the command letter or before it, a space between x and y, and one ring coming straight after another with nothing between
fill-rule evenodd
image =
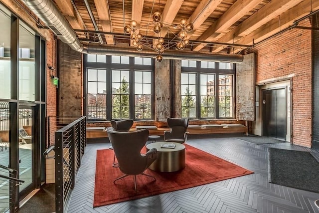
<instances>
[{"instance_id":1,"label":"grey herringbone tile floor around the red rug","mask_svg":"<svg viewBox=\"0 0 319 213\"><path fill-rule=\"evenodd\" d=\"M110 144L88 144L67 212L319 213L319 209L314 205L314 201L319 199L318 193L268 183L267 148L310 151L317 159L319 159L319 150L289 143L256 145L237 138L191 139L187 144L255 173L93 209L96 150L108 149Z\"/></svg>"}]
</instances>

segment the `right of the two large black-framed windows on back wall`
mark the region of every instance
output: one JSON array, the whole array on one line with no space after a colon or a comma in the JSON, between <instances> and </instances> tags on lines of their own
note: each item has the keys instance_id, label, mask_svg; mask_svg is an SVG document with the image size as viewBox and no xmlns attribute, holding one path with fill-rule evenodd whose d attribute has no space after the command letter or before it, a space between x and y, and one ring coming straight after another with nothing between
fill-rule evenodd
<instances>
[{"instance_id":1,"label":"right of the two large black-framed windows on back wall","mask_svg":"<svg viewBox=\"0 0 319 213\"><path fill-rule=\"evenodd\" d=\"M181 65L181 116L234 118L235 65L190 60Z\"/></svg>"}]
</instances>

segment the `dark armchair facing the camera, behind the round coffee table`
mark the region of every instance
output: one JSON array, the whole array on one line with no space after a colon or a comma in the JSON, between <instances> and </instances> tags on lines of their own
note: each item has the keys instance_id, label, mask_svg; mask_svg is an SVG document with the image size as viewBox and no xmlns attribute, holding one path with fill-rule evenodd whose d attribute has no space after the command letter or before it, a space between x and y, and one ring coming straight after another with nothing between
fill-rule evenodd
<instances>
[{"instance_id":1,"label":"dark armchair facing the camera, behind the round coffee table","mask_svg":"<svg viewBox=\"0 0 319 213\"><path fill-rule=\"evenodd\" d=\"M164 131L164 141L183 144L187 141L188 118L167 118L170 131Z\"/></svg>"}]
</instances>

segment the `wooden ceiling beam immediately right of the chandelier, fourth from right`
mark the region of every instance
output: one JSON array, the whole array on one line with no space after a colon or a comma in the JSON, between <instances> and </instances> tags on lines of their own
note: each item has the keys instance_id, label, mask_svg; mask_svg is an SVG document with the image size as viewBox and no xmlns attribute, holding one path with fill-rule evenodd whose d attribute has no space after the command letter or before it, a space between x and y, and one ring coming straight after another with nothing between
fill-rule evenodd
<instances>
[{"instance_id":1,"label":"wooden ceiling beam immediately right of the chandelier, fourth from right","mask_svg":"<svg viewBox=\"0 0 319 213\"><path fill-rule=\"evenodd\" d=\"M196 7L195 11L188 18L187 22L194 25L193 31L195 31L216 9L216 7L223 0L202 0ZM189 33L190 34L190 33ZM188 35L189 37L190 35Z\"/></svg>"}]
</instances>

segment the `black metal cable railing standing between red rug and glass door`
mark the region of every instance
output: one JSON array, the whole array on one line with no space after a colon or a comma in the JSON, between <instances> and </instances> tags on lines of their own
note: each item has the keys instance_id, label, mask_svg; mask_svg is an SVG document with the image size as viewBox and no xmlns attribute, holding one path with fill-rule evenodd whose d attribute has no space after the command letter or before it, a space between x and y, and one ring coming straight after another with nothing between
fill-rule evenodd
<instances>
[{"instance_id":1,"label":"black metal cable railing standing between red rug and glass door","mask_svg":"<svg viewBox=\"0 0 319 213\"><path fill-rule=\"evenodd\" d=\"M59 120L63 120L62 117ZM49 149L55 152L55 212L63 213L86 146L86 116L55 131L54 139L54 148ZM45 153L49 153L49 149Z\"/></svg>"}]
</instances>

